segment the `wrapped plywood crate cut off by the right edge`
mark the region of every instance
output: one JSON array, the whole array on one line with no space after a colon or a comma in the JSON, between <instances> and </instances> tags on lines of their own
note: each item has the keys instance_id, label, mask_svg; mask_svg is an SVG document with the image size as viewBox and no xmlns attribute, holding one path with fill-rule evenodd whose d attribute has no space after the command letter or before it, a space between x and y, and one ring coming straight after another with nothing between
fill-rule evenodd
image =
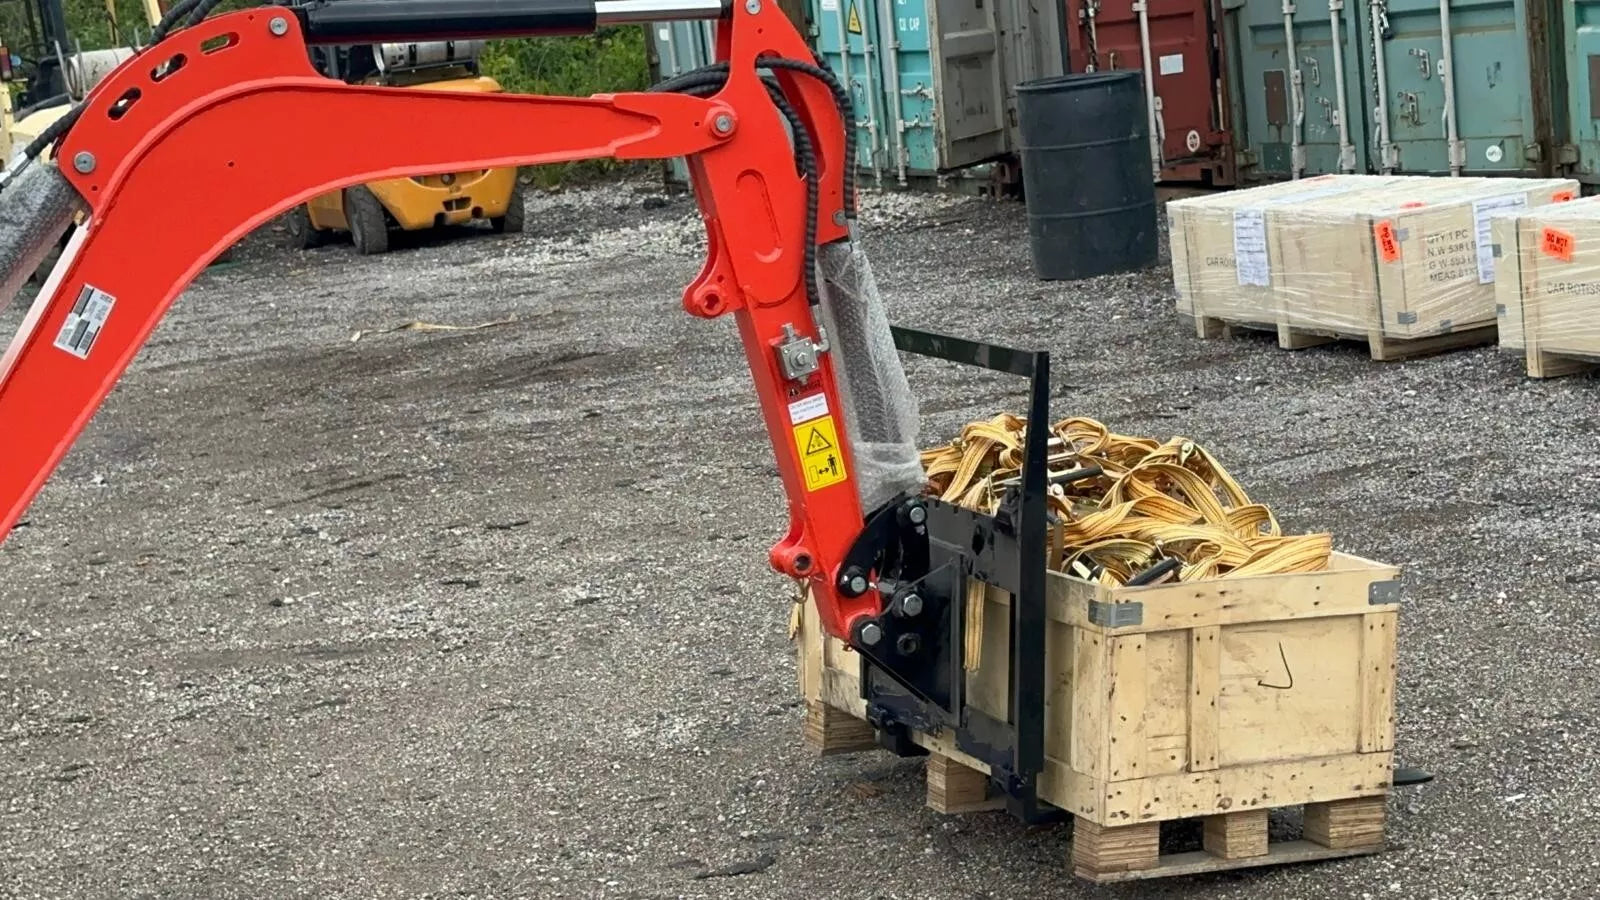
<instances>
[{"instance_id":1,"label":"wrapped plywood crate cut off by the right edge","mask_svg":"<svg viewBox=\"0 0 1600 900\"><path fill-rule=\"evenodd\" d=\"M1493 231L1501 348L1534 378L1600 365L1600 197L1502 216Z\"/></svg>"}]
</instances>

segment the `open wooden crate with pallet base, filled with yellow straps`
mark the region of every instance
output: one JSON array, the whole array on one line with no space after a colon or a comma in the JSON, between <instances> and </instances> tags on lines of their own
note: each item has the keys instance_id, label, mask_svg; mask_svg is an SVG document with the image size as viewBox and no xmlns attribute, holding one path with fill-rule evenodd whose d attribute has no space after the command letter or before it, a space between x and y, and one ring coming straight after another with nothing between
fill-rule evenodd
<instances>
[{"instance_id":1,"label":"open wooden crate with pallet base, filled with yellow straps","mask_svg":"<svg viewBox=\"0 0 1600 900\"><path fill-rule=\"evenodd\" d=\"M1384 846L1394 767L1397 569L1334 554L1330 570L1107 589L1051 573L1045 772L1038 794L1074 823L1074 871L1122 881L1368 854ZM968 705L1008 703L1010 597L984 601ZM808 740L859 729L859 660L798 634ZM843 713L845 716L840 716ZM858 722L851 722L856 719ZM912 735L933 756L930 806L997 806L989 767L949 732ZM1267 812L1304 807L1304 839L1267 841ZM1163 822L1203 820L1205 850L1162 855Z\"/></svg>"}]
</instances>

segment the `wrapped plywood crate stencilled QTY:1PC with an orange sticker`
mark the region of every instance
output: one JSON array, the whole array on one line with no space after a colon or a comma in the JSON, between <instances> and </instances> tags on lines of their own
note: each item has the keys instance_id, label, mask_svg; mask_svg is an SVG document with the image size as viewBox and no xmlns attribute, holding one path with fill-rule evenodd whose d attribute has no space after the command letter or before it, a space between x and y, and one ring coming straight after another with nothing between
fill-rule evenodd
<instances>
[{"instance_id":1,"label":"wrapped plywood crate stencilled QTY:1PC with an orange sticker","mask_svg":"<svg viewBox=\"0 0 1600 900\"><path fill-rule=\"evenodd\" d=\"M1430 178L1275 216L1274 285L1291 330L1416 356L1494 338L1491 219L1570 200L1573 179Z\"/></svg>"}]
</instances>

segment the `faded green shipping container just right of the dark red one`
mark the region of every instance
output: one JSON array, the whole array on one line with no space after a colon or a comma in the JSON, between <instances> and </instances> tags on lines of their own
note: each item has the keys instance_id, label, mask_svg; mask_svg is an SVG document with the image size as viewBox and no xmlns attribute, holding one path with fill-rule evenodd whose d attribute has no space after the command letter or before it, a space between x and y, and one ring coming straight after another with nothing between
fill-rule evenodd
<instances>
[{"instance_id":1,"label":"faded green shipping container just right of the dark red one","mask_svg":"<svg viewBox=\"0 0 1600 900\"><path fill-rule=\"evenodd\" d=\"M1224 3L1240 179L1536 176L1571 155L1552 0Z\"/></svg>"}]
</instances>

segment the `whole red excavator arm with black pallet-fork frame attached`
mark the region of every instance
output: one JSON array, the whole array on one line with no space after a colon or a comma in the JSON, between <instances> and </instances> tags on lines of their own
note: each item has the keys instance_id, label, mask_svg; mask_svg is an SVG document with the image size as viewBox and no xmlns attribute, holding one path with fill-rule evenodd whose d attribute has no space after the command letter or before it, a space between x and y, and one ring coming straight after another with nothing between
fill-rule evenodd
<instances>
[{"instance_id":1,"label":"whole red excavator arm with black pallet-fork frame attached","mask_svg":"<svg viewBox=\"0 0 1600 900\"><path fill-rule=\"evenodd\" d=\"M886 746L918 753L910 730L949 729L1014 812L1037 812L1048 431L1029 429L995 516L923 496L898 352L1030 378L1029 421L1048 415L1048 354L888 325L853 234L850 94L774 0L318 0L206 18L216 2L178 0L150 46L0 173L0 306L70 229L0 357L0 538L184 287L270 218L386 178L683 157L707 235L683 306L738 323L789 503L771 567L859 652ZM346 85L309 61L314 43L678 18L717 21L717 61L643 93ZM1005 717L965 703L966 597L984 583L1013 597Z\"/></svg>"}]
</instances>

